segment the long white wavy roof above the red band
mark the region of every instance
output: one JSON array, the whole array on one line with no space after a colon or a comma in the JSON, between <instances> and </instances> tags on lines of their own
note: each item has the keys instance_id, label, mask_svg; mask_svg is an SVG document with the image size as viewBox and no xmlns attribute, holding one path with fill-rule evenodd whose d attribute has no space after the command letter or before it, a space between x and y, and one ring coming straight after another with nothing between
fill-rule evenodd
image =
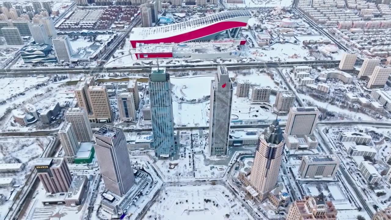
<instances>
[{"instance_id":1,"label":"long white wavy roof above the red band","mask_svg":"<svg viewBox=\"0 0 391 220\"><path fill-rule=\"evenodd\" d=\"M246 22L251 17L251 13L247 10L232 10L222 11L217 14L211 14L203 18L188 20L186 22L175 23L158 27L136 27L133 28L130 34L131 40L154 40L160 38L169 38L189 31L194 31L212 25L213 23L224 20L233 20L235 18L239 22ZM233 20L234 21L234 20Z\"/></svg>"}]
</instances>

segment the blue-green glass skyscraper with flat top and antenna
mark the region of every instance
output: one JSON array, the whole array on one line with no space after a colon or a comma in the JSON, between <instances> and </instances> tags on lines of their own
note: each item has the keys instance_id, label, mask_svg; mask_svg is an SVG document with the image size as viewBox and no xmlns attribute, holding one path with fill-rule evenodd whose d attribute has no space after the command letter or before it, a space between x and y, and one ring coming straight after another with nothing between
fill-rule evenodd
<instances>
[{"instance_id":1,"label":"blue-green glass skyscraper with flat top and antenna","mask_svg":"<svg viewBox=\"0 0 391 220\"><path fill-rule=\"evenodd\" d=\"M159 158L176 153L174 114L172 113L170 74L165 69L152 69L148 79L153 145Z\"/></svg>"}]
</instances>

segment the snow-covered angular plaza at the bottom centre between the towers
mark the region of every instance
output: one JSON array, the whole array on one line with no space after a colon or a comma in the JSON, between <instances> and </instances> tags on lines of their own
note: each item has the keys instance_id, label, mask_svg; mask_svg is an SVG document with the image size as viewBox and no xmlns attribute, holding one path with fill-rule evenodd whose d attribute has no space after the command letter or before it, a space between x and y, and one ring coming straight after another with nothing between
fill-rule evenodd
<instances>
[{"instance_id":1,"label":"snow-covered angular plaza at the bottom centre between the towers","mask_svg":"<svg viewBox=\"0 0 391 220\"><path fill-rule=\"evenodd\" d=\"M166 187L143 219L253 219L222 185Z\"/></svg>"}]
</instances>

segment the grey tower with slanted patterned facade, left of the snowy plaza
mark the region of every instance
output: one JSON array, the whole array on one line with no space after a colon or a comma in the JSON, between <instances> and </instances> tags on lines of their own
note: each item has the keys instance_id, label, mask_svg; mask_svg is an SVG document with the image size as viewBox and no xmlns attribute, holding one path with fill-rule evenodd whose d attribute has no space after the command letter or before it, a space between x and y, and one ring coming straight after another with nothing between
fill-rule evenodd
<instances>
[{"instance_id":1,"label":"grey tower with slanted patterned facade, left of the snowy plaza","mask_svg":"<svg viewBox=\"0 0 391 220\"><path fill-rule=\"evenodd\" d=\"M104 125L94 133L94 149L106 189L122 196L135 184L132 164L121 128Z\"/></svg>"}]
</instances>

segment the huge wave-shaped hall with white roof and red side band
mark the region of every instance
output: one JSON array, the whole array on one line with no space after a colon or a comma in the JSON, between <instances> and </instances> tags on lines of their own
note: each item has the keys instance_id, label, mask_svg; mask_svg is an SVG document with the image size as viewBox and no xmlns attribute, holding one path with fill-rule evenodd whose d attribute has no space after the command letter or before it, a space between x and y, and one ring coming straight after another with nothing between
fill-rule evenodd
<instances>
[{"instance_id":1,"label":"huge wave-shaped hall with white roof and red side band","mask_svg":"<svg viewBox=\"0 0 391 220\"><path fill-rule=\"evenodd\" d=\"M196 40L214 40L226 32L228 38L237 38L241 27L246 27L251 13L246 10L222 11L203 18L158 27L133 28L130 43L182 43Z\"/></svg>"}]
</instances>

